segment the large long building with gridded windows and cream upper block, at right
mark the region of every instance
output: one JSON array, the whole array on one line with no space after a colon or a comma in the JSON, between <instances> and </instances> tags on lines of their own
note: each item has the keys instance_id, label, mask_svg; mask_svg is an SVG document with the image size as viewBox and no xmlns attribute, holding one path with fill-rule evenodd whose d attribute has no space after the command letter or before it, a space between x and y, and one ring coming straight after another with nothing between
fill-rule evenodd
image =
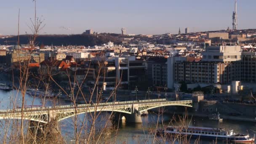
<instances>
[{"instance_id":1,"label":"large long building with gridded windows and cream upper block, at right","mask_svg":"<svg viewBox=\"0 0 256 144\"><path fill-rule=\"evenodd\" d=\"M174 83L256 83L256 52L242 52L240 46L210 46L199 62L168 58L168 87ZM169 83L170 81L170 83Z\"/></svg>"}]
</instances>

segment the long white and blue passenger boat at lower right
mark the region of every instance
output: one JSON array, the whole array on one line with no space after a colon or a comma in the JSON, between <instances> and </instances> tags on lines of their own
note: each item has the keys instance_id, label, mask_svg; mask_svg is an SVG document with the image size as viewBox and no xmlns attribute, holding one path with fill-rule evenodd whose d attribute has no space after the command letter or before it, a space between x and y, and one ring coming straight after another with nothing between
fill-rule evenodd
<instances>
[{"instance_id":1,"label":"long white and blue passenger boat at lower right","mask_svg":"<svg viewBox=\"0 0 256 144\"><path fill-rule=\"evenodd\" d=\"M165 129L158 129L157 135L165 134L166 136L187 135L188 137L196 139L209 139L232 142L254 142L255 136L252 138L249 134L236 134L233 130L225 131L223 128L206 128L189 126L187 128L180 128L176 126L168 126Z\"/></svg>"}]
</instances>

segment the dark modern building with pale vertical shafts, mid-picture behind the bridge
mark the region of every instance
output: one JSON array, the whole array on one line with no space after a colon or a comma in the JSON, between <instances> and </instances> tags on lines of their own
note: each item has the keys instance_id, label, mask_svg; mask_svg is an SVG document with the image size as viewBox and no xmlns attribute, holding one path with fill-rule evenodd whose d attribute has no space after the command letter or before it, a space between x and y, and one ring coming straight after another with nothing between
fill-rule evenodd
<instances>
[{"instance_id":1,"label":"dark modern building with pale vertical shafts, mid-picture behind the bridge","mask_svg":"<svg viewBox=\"0 0 256 144\"><path fill-rule=\"evenodd\" d=\"M99 61L86 61L85 71L88 71L86 85L93 87L96 83L96 77L100 71L101 77L98 84L103 86L104 90L112 90L120 82L120 88L134 88L135 85L144 80L145 66L143 61L135 59L135 56L129 57L110 57L104 62L104 66L99 68Z\"/></svg>"}]
</instances>

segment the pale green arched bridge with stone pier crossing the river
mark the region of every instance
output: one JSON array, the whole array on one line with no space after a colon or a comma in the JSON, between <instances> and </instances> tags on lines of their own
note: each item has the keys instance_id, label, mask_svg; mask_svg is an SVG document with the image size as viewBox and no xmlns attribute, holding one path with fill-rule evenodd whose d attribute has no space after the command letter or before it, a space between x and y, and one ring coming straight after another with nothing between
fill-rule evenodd
<instances>
[{"instance_id":1,"label":"pale green arched bridge with stone pier crossing the river","mask_svg":"<svg viewBox=\"0 0 256 144\"><path fill-rule=\"evenodd\" d=\"M96 104L77 104L56 107L33 107L23 109L23 119L40 123L61 121L86 112L110 111L122 114L128 122L141 123L141 114L149 109L165 106L192 107L192 100L168 101L151 99L139 101L116 101ZM0 119L21 119L21 109L0 110Z\"/></svg>"}]
</instances>

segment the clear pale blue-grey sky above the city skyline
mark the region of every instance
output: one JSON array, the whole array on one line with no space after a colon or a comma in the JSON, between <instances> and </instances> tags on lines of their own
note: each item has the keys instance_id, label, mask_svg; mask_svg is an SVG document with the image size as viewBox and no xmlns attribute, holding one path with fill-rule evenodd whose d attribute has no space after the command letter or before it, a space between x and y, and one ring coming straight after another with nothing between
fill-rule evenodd
<instances>
[{"instance_id":1,"label":"clear pale blue-grey sky above the city skyline","mask_svg":"<svg viewBox=\"0 0 256 144\"><path fill-rule=\"evenodd\" d=\"M43 17L41 34L95 32L128 34L176 34L232 28L234 0L36 0ZM237 0L237 29L256 28L256 0ZM0 0L0 34L31 33L32 0ZM64 29L63 27L69 28Z\"/></svg>"}]
</instances>

